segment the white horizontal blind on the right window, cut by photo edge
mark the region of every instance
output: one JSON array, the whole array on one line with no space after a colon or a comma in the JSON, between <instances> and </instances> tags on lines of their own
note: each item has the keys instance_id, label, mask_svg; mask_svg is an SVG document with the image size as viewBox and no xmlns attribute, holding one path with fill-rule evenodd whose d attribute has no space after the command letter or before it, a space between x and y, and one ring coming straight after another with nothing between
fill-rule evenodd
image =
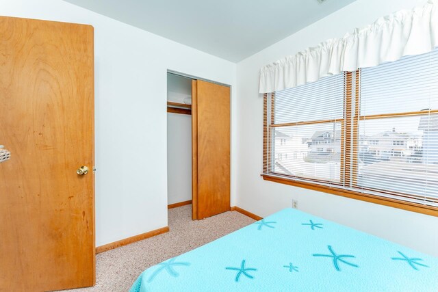
<instances>
[{"instance_id":1,"label":"white horizontal blind on the right window, cut by photo edge","mask_svg":"<svg viewBox=\"0 0 438 292\"><path fill-rule=\"evenodd\" d=\"M422 204L438 201L438 49L363 68L357 185Z\"/></svg>"}]
</instances>

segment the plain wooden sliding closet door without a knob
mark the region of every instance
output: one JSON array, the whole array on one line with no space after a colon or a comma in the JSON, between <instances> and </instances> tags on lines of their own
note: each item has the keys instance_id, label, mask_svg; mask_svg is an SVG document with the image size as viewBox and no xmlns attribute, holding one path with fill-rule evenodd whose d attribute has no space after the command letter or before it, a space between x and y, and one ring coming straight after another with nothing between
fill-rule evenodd
<instances>
[{"instance_id":1,"label":"plain wooden sliding closet door without a knob","mask_svg":"<svg viewBox=\"0 0 438 292\"><path fill-rule=\"evenodd\" d=\"M230 210L230 88L192 83L192 217Z\"/></svg>"}]
</instances>

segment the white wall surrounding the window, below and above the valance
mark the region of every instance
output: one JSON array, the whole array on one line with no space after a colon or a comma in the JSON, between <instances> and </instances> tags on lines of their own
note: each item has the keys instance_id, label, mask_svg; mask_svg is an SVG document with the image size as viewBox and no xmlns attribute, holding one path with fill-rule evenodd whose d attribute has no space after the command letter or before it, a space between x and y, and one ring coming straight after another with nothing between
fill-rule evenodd
<instances>
[{"instance_id":1,"label":"white wall surrounding the window, below and above the valance","mask_svg":"<svg viewBox=\"0 0 438 292\"><path fill-rule=\"evenodd\" d=\"M237 201L236 205L266 216L292 207L438 256L438 217L411 213L359 200L263 181L263 99L258 94L259 69L329 38L340 38L396 10L423 4L418 0L357 0L321 21L273 44L237 64Z\"/></svg>"}]
</instances>

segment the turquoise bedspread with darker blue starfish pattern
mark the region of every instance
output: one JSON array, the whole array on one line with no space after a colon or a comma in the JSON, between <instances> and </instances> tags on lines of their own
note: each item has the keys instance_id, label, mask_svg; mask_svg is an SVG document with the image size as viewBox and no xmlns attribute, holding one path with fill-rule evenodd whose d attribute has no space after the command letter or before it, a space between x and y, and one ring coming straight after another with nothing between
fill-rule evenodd
<instances>
[{"instance_id":1,"label":"turquoise bedspread with darker blue starfish pattern","mask_svg":"<svg viewBox=\"0 0 438 292\"><path fill-rule=\"evenodd\" d=\"M438 291L438 258L284 209L146 269L130 291Z\"/></svg>"}]
</instances>

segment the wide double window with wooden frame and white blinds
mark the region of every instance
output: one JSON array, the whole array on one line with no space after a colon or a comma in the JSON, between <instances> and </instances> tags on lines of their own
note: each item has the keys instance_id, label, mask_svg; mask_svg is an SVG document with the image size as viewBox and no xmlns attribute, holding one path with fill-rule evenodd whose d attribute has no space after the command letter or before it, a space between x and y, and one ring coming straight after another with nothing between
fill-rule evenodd
<instances>
[{"instance_id":1,"label":"wide double window with wooden frame and white blinds","mask_svg":"<svg viewBox=\"0 0 438 292\"><path fill-rule=\"evenodd\" d=\"M438 210L438 49L265 94L264 111L266 179Z\"/></svg>"}]
</instances>

